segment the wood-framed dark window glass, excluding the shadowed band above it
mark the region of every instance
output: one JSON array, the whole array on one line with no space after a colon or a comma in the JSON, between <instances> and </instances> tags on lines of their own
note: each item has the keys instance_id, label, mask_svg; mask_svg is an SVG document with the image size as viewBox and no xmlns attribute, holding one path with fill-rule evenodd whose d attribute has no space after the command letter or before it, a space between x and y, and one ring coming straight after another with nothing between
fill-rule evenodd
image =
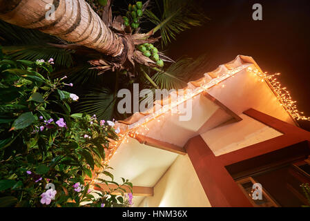
<instances>
[{"instance_id":1,"label":"wood-framed dark window glass, excluding the shadowed band above it","mask_svg":"<svg viewBox=\"0 0 310 221\"><path fill-rule=\"evenodd\" d=\"M307 160L308 161L308 160ZM252 173L251 176L236 180L242 191L247 195L253 206L303 206L309 205L300 187L303 183L310 184L310 164L300 162L275 166L264 171ZM253 200L252 186L262 185L262 200Z\"/></svg>"}]
</instances>

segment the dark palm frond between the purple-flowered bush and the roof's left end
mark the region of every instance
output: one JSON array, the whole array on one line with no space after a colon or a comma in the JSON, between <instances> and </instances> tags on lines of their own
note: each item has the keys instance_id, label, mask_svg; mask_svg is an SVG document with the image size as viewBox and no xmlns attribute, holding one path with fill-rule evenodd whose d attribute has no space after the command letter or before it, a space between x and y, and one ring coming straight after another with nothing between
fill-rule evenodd
<instances>
[{"instance_id":1,"label":"dark palm frond between the purple-flowered bush and the roof's left end","mask_svg":"<svg viewBox=\"0 0 310 221\"><path fill-rule=\"evenodd\" d=\"M93 88L81 99L77 110L96 115L98 119L112 119L117 97L109 88Z\"/></svg>"}]
</instances>

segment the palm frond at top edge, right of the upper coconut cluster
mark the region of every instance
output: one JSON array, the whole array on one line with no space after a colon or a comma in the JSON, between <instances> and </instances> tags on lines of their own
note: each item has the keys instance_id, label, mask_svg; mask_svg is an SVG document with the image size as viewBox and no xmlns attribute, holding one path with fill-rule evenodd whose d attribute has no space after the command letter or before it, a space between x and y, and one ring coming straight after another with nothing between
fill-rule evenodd
<instances>
[{"instance_id":1,"label":"palm frond at top edge, right of the upper coconut cluster","mask_svg":"<svg viewBox=\"0 0 310 221\"><path fill-rule=\"evenodd\" d=\"M157 17L151 10L145 10L145 15L156 25L151 32L161 31L165 46L180 32L192 26L201 26L208 19L191 0L163 0L162 3L162 17Z\"/></svg>"}]
</instances>

